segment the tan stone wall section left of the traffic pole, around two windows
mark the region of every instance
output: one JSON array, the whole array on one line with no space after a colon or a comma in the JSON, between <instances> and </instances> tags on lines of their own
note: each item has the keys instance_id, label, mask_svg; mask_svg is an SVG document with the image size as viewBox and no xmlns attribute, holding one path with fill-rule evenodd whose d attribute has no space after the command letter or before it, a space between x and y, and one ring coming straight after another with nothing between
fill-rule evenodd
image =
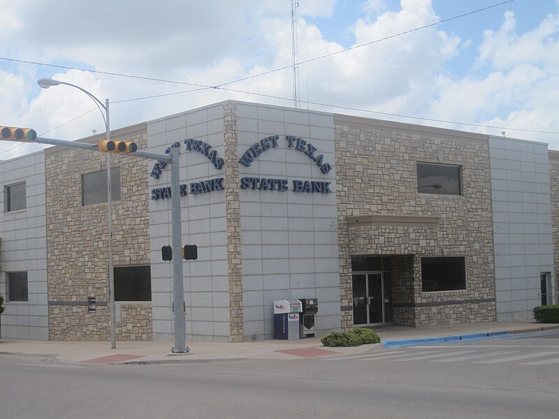
<instances>
[{"instance_id":1,"label":"tan stone wall section left of the traffic pole, around two windows","mask_svg":"<svg viewBox=\"0 0 559 419\"><path fill-rule=\"evenodd\" d=\"M112 135L145 149L143 125ZM120 168L121 178L121 198L112 202L114 265L149 265L147 161L112 155L111 166ZM97 170L106 170L106 154L60 147L46 152L51 340L110 339L107 204L82 205L82 175ZM88 310L88 297L95 297L95 311ZM124 304L117 339L151 339L150 307Z\"/></svg>"}]
</instances>

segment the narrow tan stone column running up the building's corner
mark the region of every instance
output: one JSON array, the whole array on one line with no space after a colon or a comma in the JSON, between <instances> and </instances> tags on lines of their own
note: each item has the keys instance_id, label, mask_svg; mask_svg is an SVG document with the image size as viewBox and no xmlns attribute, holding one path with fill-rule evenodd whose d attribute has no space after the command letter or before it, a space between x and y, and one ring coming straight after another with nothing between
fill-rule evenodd
<instances>
[{"instance_id":1,"label":"narrow tan stone column running up the building's corner","mask_svg":"<svg viewBox=\"0 0 559 419\"><path fill-rule=\"evenodd\" d=\"M237 112L234 103L224 105L224 152L226 184L227 272L229 282L229 330L231 342L244 338L242 325L242 261L240 253L240 200Z\"/></svg>"}]
</instances>

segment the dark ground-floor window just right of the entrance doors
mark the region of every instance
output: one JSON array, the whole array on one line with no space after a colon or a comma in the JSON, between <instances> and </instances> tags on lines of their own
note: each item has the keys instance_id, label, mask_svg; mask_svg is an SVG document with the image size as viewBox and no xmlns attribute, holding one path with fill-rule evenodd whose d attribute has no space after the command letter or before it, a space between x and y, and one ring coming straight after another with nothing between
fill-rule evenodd
<instances>
[{"instance_id":1,"label":"dark ground-floor window just right of the entrance doors","mask_svg":"<svg viewBox=\"0 0 559 419\"><path fill-rule=\"evenodd\" d=\"M421 291L455 291L466 289L466 258L421 258Z\"/></svg>"}]
</instances>

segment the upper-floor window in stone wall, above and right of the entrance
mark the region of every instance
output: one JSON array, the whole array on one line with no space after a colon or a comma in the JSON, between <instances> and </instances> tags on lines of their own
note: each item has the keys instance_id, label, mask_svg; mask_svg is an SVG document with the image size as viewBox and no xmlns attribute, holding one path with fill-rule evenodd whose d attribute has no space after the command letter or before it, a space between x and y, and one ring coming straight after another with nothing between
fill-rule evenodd
<instances>
[{"instance_id":1,"label":"upper-floor window in stone wall, above and right of the entrance","mask_svg":"<svg viewBox=\"0 0 559 419\"><path fill-rule=\"evenodd\" d=\"M462 195L460 166L417 163L417 192Z\"/></svg>"}]
</instances>

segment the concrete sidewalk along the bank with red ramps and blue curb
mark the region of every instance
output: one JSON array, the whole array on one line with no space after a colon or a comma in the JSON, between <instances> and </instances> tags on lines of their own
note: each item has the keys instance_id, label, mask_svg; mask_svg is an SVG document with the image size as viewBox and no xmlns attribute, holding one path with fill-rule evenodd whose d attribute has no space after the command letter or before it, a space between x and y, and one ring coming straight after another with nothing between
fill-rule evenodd
<instances>
[{"instance_id":1,"label":"concrete sidewalk along the bank with red ramps and blue curb","mask_svg":"<svg viewBox=\"0 0 559 419\"><path fill-rule=\"evenodd\" d=\"M182 362L240 362L244 360L289 360L326 356L356 355L384 351L384 345L412 346L440 343L449 337L454 340L484 339L493 334L541 332L559 329L559 324L533 323L532 321L478 323L472 325L409 328L381 326L375 331L382 344L362 345L351 348L327 348L319 338L299 340L247 341L238 344L187 341L189 353L170 353L168 341L117 341L117 348L110 348L110 341L34 341L27 339L0 339L0 355L33 356L82 365L107 364L171 364ZM420 340L421 339L421 340Z\"/></svg>"}]
</instances>

